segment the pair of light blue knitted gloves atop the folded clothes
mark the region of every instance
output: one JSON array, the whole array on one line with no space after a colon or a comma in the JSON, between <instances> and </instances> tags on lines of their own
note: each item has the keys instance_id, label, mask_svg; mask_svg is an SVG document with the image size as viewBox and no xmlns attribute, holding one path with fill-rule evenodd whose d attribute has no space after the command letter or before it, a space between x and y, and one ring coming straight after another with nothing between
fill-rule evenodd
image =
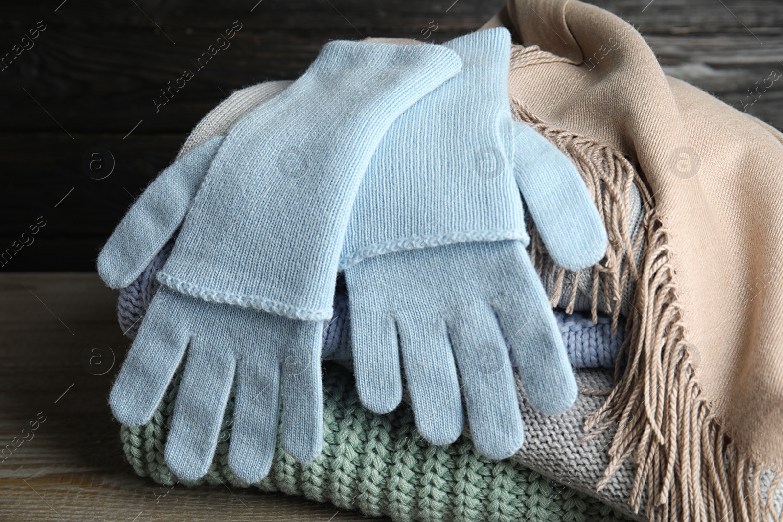
<instances>
[{"instance_id":1,"label":"pair of light blue knitted gloves atop the folded clothes","mask_svg":"<svg viewBox=\"0 0 783 522\"><path fill-rule=\"evenodd\" d=\"M319 454L338 272L373 412L399 405L404 375L422 437L455 441L467 412L478 451L503 459L524 441L512 358L537 409L572 405L525 205L565 268L600 261L606 232L572 164L512 119L510 53L504 28L443 45L330 41L135 201L99 255L108 286L128 286L176 239L110 405L146 423L184 365L165 449L179 477L209 469L234 384L238 477L269 472L281 401L283 448Z\"/></svg>"}]
</instances>

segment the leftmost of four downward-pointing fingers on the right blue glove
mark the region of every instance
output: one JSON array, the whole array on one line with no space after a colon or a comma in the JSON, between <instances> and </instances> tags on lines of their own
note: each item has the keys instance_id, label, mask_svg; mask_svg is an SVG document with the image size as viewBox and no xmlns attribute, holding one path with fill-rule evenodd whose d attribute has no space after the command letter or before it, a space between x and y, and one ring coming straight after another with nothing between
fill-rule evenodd
<instances>
[{"instance_id":1,"label":"leftmost of four downward-pointing fingers on the right blue glove","mask_svg":"<svg viewBox=\"0 0 783 522\"><path fill-rule=\"evenodd\" d=\"M348 299L351 299L350 290ZM391 314L352 306L351 338L356 391L370 411L388 413L402 401L397 329Z\"/></svg>"}]
</instances>

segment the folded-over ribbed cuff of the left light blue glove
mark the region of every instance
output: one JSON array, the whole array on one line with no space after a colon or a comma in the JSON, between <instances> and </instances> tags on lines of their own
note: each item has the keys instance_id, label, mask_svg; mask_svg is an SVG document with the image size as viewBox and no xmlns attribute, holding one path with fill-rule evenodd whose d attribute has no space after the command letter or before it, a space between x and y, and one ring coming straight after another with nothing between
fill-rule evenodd
<instances>
[{"instance_id":1,"label":"folded-over ribbed cuff of the left light blue glove","mask_svg":"<svg viewBox=\"0 0 783 522\"><path fill-rule=\"evenodd\" d=\"M230 128L158 279L207 301L328 319L373 152L460 67L439 45L324 45L305 74Z\"/></svg>"}]
</instances>

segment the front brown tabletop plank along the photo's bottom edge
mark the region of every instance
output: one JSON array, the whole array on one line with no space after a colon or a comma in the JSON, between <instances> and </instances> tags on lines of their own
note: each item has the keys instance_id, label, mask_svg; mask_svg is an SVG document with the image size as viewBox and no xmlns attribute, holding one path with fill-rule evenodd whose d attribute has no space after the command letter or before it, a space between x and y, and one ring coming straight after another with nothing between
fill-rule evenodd
<instances>
[{"instance_id":1,"label":"front brown tabletop plank along the photo's bottom edge","mask_svg":"<svg viewBox=\"0 0 783 522\"><path fill-rule=\"evenodd\" d=\"M0 519L128 522L343 522L369 519L304 499L257 491L162 488L121 473L67 473L0 479ZM334 518L332 518L334 517Z\"/></svg>"}]
</instances>

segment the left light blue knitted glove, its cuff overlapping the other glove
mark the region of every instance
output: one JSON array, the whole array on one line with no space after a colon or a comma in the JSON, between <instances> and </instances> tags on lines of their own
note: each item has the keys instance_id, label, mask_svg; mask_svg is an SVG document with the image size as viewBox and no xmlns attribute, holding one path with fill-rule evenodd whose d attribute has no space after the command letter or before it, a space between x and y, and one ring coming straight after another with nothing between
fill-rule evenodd
<instances>
[{"instance_id":1,"label":"left light blue knitted glove, its cuff overlapping the other glove","mask_svg":"<svg viewBox=\"0 0 783 522\"><path fill-rule=\"evenodd\" d=\"M239 477L269 471L281 388L283 447L318 455L322 322L355 193L388 126L460 67L438 45L332 41L283 93L163 171L117 226L98 260L112 287L182 223L110 394L117 419L146 423L187 349L165 450L179 477L207 472L235 376Z\"/></svg>"}]
</instances>

